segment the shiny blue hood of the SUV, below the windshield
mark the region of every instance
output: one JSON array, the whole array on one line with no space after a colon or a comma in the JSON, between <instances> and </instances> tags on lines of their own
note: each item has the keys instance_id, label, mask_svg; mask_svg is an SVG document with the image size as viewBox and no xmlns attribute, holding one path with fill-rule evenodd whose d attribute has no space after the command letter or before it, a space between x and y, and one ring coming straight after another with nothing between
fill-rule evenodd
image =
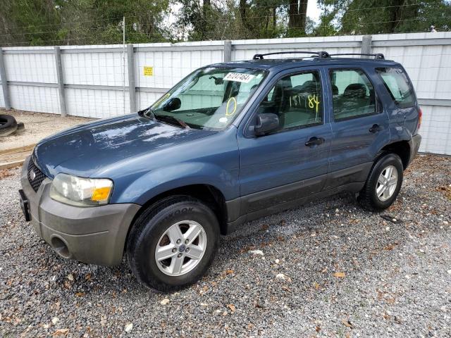
<instances>
[{"instance_id":1,"label":"shiny blue hood of the SUV, below the windshield","mask_svg":"<svg viewBox=\"0 0 451 338\"><path fill-rule=\"evenodd\" d=\"M58 173L89 177L108 165L213 133L183 129L133 114L80 125L43 139L33 156L48 177Z\"/></svg>"}]
</instances>

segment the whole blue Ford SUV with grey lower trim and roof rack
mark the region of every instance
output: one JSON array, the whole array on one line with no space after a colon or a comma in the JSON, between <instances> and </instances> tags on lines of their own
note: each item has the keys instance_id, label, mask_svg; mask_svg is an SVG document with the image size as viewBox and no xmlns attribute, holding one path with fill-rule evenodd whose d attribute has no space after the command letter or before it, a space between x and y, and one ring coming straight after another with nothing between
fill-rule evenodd
<instances>
[{"instance_id":1,"label":"whole blue Ford SUV with grey lower trim and roof rack","mask_svg":"<svg viewBox=\"0 0 451 338\"><path fill-rule=\"evenodd\" d=\"M199 68L149 108L43 139L23 166L26 220L63 258L125 256L140 282L169 291L250 220L343 191L388 208L421 142L404 68L382 54L291 53L306 56Z\"/></svg>"}]
</instances>

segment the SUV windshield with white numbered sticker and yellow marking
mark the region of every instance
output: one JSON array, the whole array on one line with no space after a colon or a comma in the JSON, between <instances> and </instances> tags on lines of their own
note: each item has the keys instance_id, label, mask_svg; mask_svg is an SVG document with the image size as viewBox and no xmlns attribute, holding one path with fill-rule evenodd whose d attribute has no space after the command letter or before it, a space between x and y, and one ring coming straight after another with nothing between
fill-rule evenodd
<instances>
[{"instance_id":1,"label":"SUV windshield with white numbered sticker and yellow marking","mask_svg":"<svg viewBox=\"0 0 451 338\"><path fill-rule=\"evenodd\" d=\"M161 96L145 115L153 113L157 120L196 129L222 130L265 75L264 70L246 68L201 68Z\"/></svg>"}]
</instances>

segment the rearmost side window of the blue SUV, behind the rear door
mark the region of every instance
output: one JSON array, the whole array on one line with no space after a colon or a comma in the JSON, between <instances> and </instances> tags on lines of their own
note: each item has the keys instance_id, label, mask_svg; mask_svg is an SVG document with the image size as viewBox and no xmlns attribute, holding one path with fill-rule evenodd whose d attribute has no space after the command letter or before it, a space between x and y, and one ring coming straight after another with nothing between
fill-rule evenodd
<instances>
[{"instance_id":1,"label":"rearmost side window of the blue SUV, behind the rear door","mask_svg":"<svg viewBox=\"0 0 451 338\"><path fill-rule=\"evenodd\" d=\"M398 107L409 108L414 106L414 89L404 70L396 67L376 68L376 73L381 77L385 88L387 88Z\"/></svg>"}]
</instances>

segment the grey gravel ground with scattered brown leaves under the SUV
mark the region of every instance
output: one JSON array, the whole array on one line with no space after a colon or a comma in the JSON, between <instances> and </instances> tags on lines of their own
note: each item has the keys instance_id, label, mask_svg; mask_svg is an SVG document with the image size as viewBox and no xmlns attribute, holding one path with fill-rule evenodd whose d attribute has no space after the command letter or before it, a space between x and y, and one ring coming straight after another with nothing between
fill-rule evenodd
<instances>
[{"instance_id":1,"label":"grey gravel ground with scattered brown leaves under the SUV","mask_svg":"<svg viewBox=\"0 0 451 338\"><path fill-rule=\"evenodd\" d=\"M23 220L18 175L0 184L0 336L451 336L451 158L417 158L382 214L342 194L248 223L173 294L125 263L58 258Z\"/></svg>"}]
</instances>

